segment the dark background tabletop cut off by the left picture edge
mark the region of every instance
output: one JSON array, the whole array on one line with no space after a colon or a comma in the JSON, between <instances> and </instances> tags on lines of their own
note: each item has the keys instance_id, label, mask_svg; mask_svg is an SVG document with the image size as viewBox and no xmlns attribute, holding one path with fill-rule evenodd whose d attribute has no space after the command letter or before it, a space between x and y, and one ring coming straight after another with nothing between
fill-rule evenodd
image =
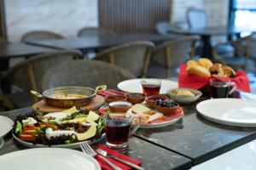
<instances>
[{"instance_id":1,"label":"dark background tabletop cut off by the left picture edge","mask_svg":"<svg viewBox=\"0 0 256 170\"><path fill-rule=\"evenodd\" d=\"M36 54L54 51L52 48L37 47L26 43L0 43L0 59L29 57Z\"/></svg>"}]
</instances>

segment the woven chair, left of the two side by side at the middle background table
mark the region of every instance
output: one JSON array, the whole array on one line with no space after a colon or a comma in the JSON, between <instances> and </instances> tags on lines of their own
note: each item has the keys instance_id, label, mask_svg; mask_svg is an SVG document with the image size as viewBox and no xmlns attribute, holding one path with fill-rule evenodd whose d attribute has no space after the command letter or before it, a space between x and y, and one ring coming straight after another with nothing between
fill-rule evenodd
<instances>
[{"instance_id":1,"label":"woven chair, left of the two side by side at the middle background table","mask_svg":"<svg viewBox=\"0 0 256 170\"><path fill-rule=\"evenodd\" d=\"M118 65L137 77L144 77L148 69L152 48L154 48L153 42L127 42L108 48L96 54L93 59Z\"/></svg>"}]
</instances>

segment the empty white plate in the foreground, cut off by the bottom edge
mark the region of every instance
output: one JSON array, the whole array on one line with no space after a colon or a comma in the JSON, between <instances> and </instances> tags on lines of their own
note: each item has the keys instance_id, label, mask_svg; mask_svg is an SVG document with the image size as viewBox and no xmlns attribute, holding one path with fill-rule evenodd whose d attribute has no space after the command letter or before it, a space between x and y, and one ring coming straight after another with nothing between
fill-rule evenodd
<instances>
[{"instance_id":1,"label":"empty white plate in the foreground, cut off by the bottom edge","mask_svg":"<svg viewBox=\"0 0 256 170\"><path fill-rule=\"evenodd\" d=\"M100 170L99 163L78 150L38 148L0 156L4 170Z\"/></svg>"}]
</instances>

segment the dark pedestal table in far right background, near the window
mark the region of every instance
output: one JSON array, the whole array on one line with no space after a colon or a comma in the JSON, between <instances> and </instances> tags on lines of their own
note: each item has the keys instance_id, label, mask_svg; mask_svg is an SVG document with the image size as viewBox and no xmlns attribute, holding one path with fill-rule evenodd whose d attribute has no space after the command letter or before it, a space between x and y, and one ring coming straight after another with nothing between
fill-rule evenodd
<instances>
[{"instance_id":1,"label":"dark pedestal table in far right background, near the window","mask_svg":"<svg viewBox=\"0 0 256 170\"><path fill-rule=\"evenodd\" d=\"M236 28L229 26L214 26L214 27L206 27L201 29L181 29L178 27L171 26L168 30L170 33L181 34L181 35L198 35L201 37L201 41L203 42L202 48L202 57L212 58L212 45L211 45L211 37L212 36L230 36L237 35L240 36L242 31L252 31L247 30L247 28Z\"/></svg>"}]
</instances>

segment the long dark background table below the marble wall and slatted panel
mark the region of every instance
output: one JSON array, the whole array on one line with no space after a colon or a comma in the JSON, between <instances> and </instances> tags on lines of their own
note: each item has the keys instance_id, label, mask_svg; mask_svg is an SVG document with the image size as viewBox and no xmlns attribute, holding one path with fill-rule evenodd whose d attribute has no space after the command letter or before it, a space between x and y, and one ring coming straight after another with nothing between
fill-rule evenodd
<instances>
[{"instance_id":1,"label":"long dark background table below the marble wall and slatted panel","mask_svg":"<svg viewBox=\"0 0 256 170\"><path fill-rule=\"evenodd\" d=\"M59 40L47 40L47 41L30 41L28 44L38 45L48 48L74 48L80 50L90 50L90 49L101 49L109 48L114 45L125 42L134 41L152 41L152 42L162 42L170 40L170 37L163 37L154 34L125 34L116 35L111 37L75 37L75 38L65 38Z\"/></svg>"}]
</instances>

